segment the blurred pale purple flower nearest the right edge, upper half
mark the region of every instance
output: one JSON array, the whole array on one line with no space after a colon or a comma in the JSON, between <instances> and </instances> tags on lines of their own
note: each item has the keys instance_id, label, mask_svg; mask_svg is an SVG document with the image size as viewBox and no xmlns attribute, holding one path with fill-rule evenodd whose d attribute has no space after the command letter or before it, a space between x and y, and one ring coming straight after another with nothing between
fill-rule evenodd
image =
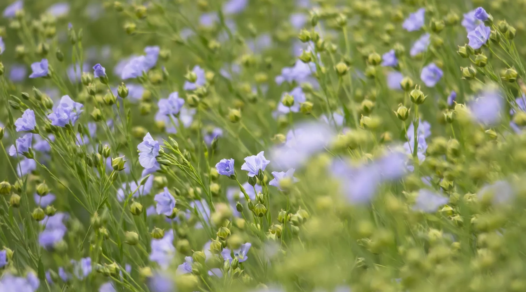
<instances>
[{"instance_id":1,"label":"blurred pale purple flower nearest the right edge, upper half","mask_svg":"<svg viewBox=\"0 0 526 292\"><path fill-rule=\"evenodd\" d=\"M503 98L497 90L486 90L474 101L468 103L473 119L481 124L499 122L503 109Z\"/></svg>"}]
</instances>

